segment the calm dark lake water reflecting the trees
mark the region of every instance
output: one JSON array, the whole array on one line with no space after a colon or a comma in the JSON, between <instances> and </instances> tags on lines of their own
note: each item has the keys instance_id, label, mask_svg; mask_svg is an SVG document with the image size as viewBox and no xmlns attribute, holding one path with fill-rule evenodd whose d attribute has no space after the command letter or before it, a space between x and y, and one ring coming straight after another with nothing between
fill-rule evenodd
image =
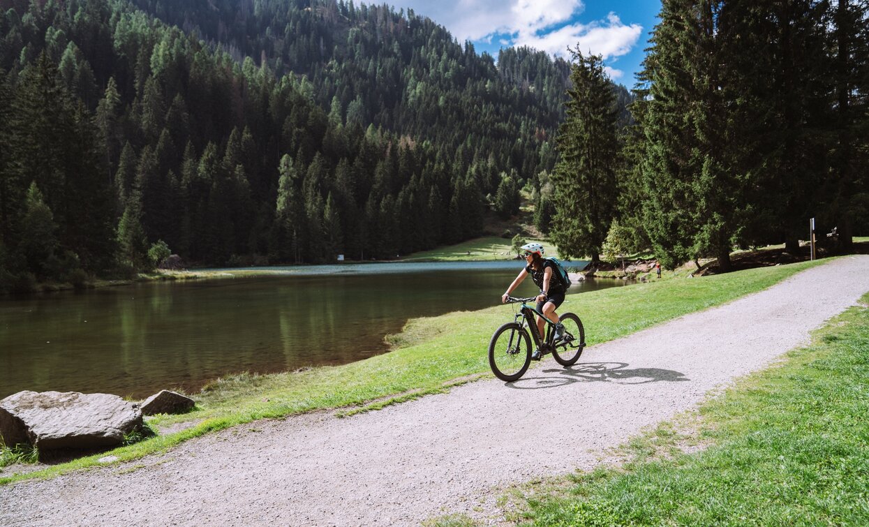
<instances>
[{"instance_id":1,"label":"calm dark lake water reflecting the trees","mask_svg":"<svg viewBox=\"0 0 869 527\"><path fill-rule=\"evenodd\" d=\"M383 336L410 317L498 304L520 269L518 262L348 264L0 297L0 398L18 390L145 397L197 390L244 370L346 364L387 351ZM587 282L569 292L621 284ZM529 277L516 294L534 292Z\"/></svg>"}]
</instances>

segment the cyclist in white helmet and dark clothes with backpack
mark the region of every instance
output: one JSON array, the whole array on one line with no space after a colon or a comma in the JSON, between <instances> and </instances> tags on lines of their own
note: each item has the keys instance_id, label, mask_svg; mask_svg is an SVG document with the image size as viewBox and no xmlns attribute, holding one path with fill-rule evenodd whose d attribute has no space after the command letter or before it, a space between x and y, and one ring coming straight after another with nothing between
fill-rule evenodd
<instances>
[{"instance_id":1,"label":"cyclist in white helmet and dark clothes with backpack","mask_svg":"<svg viewBox=\"0 0 869 527\"><path fill-rule=\"evenodd\" d=\"M561 319L555 313L555 310L564 302L564 295L567 290L564 284L561 284L561 280L557 278L553 279L555 276L555 264L543 258L543 246L540 243L526 243L522 245L521 250L527 264L525 269L519 272L519 276L516 277L513 284L510 284L510 287L507 288L507 292L501 296L501 302L507 302L510 292L519 287L522 280L525 280L526 275L531 275L534 284L537 284L537 287L541 290L541 294L537 297L537 310L555 324L554 341L558 341L564 337L564 325L561 324ZM546 323L543 321L543 318L537 317L537 330L540 331L541 336L543 335L543 327L545 325ZM534 350L531 358L535 361L541 359L540 348Z\"/></svg>"}]
</instances>

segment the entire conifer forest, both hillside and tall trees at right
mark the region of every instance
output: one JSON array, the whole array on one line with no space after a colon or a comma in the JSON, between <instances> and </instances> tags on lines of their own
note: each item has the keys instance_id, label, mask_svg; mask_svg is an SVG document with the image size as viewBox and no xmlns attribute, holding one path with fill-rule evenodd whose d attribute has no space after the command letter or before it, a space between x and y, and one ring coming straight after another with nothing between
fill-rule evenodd
<instances>
[{"instance_id":1,"label":"entire conifer forest, both hillside and tall trees at right","mask_svg":"<svg viewBox=\"0 0 869 527\"><path fill-rule=\"evenodd\" d=\"M664 0L600 57L478 54L352 0L0 0L0 291L388 259L520 192L564 257L869 232L869 0Z\"/></svg>"}]
</instances>

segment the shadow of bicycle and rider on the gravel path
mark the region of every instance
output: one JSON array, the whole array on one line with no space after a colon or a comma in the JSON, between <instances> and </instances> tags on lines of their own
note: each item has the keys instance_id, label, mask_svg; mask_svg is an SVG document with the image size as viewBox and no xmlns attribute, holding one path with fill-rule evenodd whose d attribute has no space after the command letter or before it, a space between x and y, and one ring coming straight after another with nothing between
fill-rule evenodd
<instances>
[{"instance_id":1,"label":"shadow of bicycle and rider on the gravel path","mask_svg":"<svg viewBox=\"0 0 869 527\"><path fill-rule=\"evenodd\" d=\"M667 381L680 383L690 381L684 373L661 368L628 369L627 363L580 363L567 368L549 368L543 373L559 373L558 377L527 377L505 383L515 390L541 390L557 388L574 383L647 384Z\"/></svg>"}]
</instances>

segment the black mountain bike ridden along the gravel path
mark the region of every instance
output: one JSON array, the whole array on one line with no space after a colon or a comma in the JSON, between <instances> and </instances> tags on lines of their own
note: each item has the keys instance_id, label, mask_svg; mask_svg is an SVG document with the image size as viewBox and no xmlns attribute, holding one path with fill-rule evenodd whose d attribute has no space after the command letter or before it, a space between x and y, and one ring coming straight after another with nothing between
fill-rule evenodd
<instances>
[{"instance_id":1,"label":"black mountain bike ridden along the gravel path","mask_svg":"<svg viewBox=\"0 0 869 527\"><path fill-rule=\"evenodd\" d=\"M555 324L547 317L543 317L547 323L547 330L546 337L541 337L534 315L542 317L542 313L535 306L526 304L536 300L537 297L507 297L508 304L521 303L522 306L516 311L513 322L508 322L495 330L488 350L489 366L492 367L495 377L502 381L509 383L525 374L528 365L531 364L531 337L541 350L541 356L552 352L555 362L562 366L575 364L586 347L586 331L582 327L580 317L574 313L561 315L564 337L558 342L553 342ZM531 330L531 337L528 337L526 324Z\"/></svg>"}]
</instances>

